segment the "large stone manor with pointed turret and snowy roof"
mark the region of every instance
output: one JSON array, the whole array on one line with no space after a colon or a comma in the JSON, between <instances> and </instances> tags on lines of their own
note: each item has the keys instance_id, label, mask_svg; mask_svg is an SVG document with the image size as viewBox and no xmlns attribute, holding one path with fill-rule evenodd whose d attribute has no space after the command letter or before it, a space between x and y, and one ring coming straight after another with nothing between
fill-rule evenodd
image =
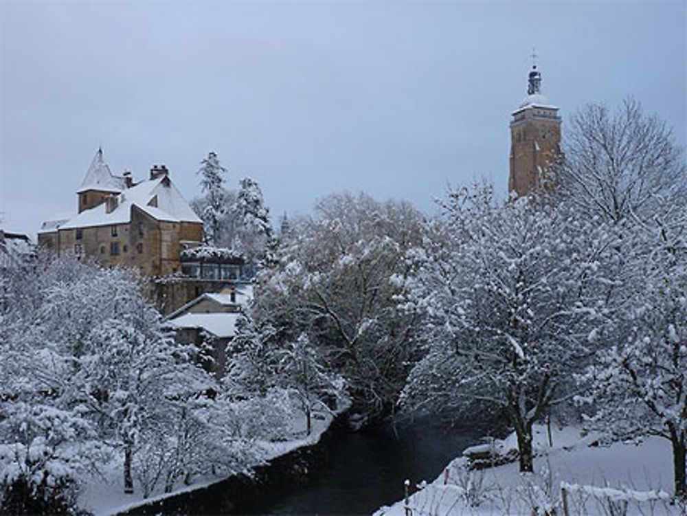
<instances>
[{"instance_id":1,"label":"large stone manor with pointed turret and snowy roof","mask_svg":"<svg viewBox=\"0 0 687 516\"><path fill-rule=\"evenodd\" d=\"M76 194L78 213L46 221L38 233L38 244L60 256L91 257L158 277L181 272L181 251L203 241L203 222L164 165L135 183L131 172L113 175L98 149Z\"/></svg>"}]
</instances>

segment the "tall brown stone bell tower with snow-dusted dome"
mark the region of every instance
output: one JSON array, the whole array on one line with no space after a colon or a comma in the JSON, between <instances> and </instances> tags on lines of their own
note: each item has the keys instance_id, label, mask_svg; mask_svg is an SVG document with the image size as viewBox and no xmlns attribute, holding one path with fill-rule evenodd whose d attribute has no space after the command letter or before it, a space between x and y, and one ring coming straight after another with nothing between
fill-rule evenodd
<instances>
[{"instance_id":1,"label":"tall brown stone bell tower with snow-dusted dome","mask_svg":"<svg viewBox=\"0 0 687 516\"><path fill-rule=\"evenodd\" d=\"M546 170L561 155L561 117L541 94L541 74L532 65L527 96L510 122L508 191L518 196L537 190Z\"/></svg>"}]
</instances>

